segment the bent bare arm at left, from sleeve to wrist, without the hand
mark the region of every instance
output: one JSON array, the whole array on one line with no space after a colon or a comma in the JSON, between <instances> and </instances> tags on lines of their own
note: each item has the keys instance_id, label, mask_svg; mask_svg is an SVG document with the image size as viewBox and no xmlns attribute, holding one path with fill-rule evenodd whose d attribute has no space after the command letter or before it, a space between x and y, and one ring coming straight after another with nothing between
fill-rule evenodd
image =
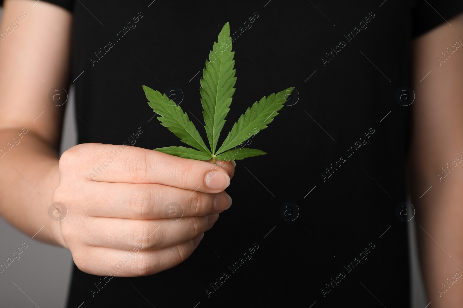
<instances>
[{"instance_id":1,"label":"bent bare arm at left, from sleeve to wrist, without the hand","mask_svg":"<svg viewBox=\"0 0 463 308\"><path fill-rule=\"evenodd\" d=\"M64 106L51 104L48 92L69 83L72 17L34 3L6 0L2 11L0 29L13 30L0 42L0 215L30 236L44 227L35 239L64 245L59 223L48 216L59 181Z\"/></svg>"}]
</instances>

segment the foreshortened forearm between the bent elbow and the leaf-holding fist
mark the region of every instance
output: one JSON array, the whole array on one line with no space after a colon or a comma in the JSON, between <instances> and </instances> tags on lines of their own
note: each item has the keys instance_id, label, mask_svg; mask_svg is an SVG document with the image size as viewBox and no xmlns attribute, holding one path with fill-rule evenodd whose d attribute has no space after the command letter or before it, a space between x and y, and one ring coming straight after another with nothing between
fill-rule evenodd
<instances>
[{"instance_id":1,"label":"foreshortened forearm between the bent elbow and the leaf-holding fist","mask_svg":"<svg viewBox=\"0 0 463 308\"><path fill-rule=\"evenodd\" d=\"M0 130L0 215L34 239L64 246L60 223L48 211L59 182L57 153L33 131L21 129Z\"/></svg>"}]
</instances>

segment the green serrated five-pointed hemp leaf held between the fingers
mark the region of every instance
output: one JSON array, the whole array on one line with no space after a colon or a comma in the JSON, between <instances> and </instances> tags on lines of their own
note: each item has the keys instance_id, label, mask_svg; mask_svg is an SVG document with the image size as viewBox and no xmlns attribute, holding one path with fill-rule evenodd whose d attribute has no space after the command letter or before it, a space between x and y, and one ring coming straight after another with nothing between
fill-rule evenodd
<instances>
[{"instance_id":1,"label":"green serrated five-pointed hemp leaf held between the fingers","mask_svg":"<svg viewBox=\"0 0 463 308\"><path fill-rule=\"evenodd\" d=\"M267 154L264 151L244 148L244 141L267 127L278 115L283 104L287 101L289 94L294 87L290 87L278 93L270 94L269 97L262 97L259 102L254 103L246 112L241 115L225 138L225 141L217 150L220 132L225 124L225 117L230 111L232 96L235 92L235 52L232 51L232 38L230 37L230 24L226 23L219 33L217 42L213 44L213 50L209 53L209 60L206 60L206 68L203 69L203 77L200 79L201 105L208 148L200 136L200 133L190 121L188 115L181 107L165 94L143 86L148 104L156 112L157 119L161 125L181 139L181 142L193 148L184 146L170 146L154 149L170 155L197 160L216 159L230 161L244 159Z\"/></svg>"}]
</instances>

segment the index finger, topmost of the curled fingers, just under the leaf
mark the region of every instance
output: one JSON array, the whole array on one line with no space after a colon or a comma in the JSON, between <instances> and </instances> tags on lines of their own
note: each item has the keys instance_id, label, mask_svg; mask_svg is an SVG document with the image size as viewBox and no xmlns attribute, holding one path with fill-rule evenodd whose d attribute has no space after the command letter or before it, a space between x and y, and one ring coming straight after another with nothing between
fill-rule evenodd
<instances>
[{"instance_id":1,"label":"index finger, topmost of the curled fingers, just under the leaf","mask_svg":"<svg viewBox=\"0 0 463 308\"><path fill-rule=\"evenodd\" d=\"M75 161L74 166L79 164L79 171L93 181L153 183L203 193L219 193L230 185L234 172L232 163L220 161L222 168L217 163L176 157L130 145L87 144L72 149L70 155L79 157L79 160L70 160ZM88 163L82 163L81 157L87 157Z\"/></svg>"}]
</instances>

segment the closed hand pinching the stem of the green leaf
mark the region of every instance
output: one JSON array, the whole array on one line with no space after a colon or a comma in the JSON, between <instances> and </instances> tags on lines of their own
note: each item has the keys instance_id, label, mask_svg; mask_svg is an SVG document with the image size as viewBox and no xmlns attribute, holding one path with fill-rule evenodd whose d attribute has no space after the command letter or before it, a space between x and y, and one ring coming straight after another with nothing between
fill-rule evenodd
<instances>
[{"instance_id":1,"label":"closed hand pinching the stem of the green leaf","mask_svg":"<svg viewBox=\"0 0 463 308\"><path fill-rule=\"evenodd\" d=\"M230 162L91 143L65 151L59 169L53 202L67 216L58 242L81 271L99 276L145 276L180 264L232 201L224 192ZM173 208L180 218L169 216Z\"/></svg>"}]
</instances>

